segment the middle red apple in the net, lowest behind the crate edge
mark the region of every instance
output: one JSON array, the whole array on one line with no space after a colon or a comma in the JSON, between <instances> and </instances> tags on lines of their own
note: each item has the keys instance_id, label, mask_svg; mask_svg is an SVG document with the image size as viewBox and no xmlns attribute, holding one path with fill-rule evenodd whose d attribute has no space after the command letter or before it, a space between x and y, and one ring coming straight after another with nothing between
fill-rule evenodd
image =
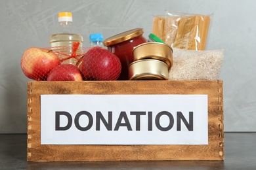
<instances>
[{"instance_id":1,"label":"middle red apple in the net, lowest behind the crate edge","mask_svg":"<svg viewBox=\"0 0 256 170\"><path fill-rule=\"evenodd\" d=\"M83 81L83 76L75 65L61 64L50 71L47 81Z\"/></svg>"}]
</instances>

